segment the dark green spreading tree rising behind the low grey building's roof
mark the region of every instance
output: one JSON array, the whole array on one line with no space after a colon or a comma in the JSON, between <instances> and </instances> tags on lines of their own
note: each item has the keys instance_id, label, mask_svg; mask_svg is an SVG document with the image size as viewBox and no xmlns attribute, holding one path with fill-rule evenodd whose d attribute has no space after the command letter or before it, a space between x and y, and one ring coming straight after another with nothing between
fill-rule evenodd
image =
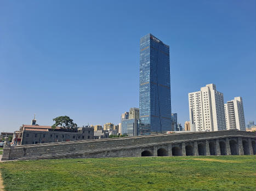
<instances>
[{"instance_id":1,"label":"dark green spreading tree rising behind the low grey building's roof","mask_svg":"<svg viewBox=\"0 0 256 191\"><path fill-rule=\"evenodd\" d=\"M73 120L71 120L68 116L60 116L53 119L55 123L53 124L52 128L55 129L56 127L60 127L61 129L70 129L70 130L76 130L77 124L73 123Z\"/></svg>"}]
</instances>

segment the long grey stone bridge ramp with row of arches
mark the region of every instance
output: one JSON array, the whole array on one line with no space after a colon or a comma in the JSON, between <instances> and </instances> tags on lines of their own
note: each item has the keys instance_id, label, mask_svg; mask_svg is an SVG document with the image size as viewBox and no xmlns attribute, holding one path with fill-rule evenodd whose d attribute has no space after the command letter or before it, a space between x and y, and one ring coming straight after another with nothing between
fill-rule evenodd
<instances>
[{"instance_id":1,"label":"long grey stone bridge ramp with row of arches","mask_svg":"<svg viewBox=\"0 0 256 191\"><path fill-rule=\"evenodd\" d=\"M130 136L4 146L2 160L255 154L256 133L240 130Z\"/></svg>"}]
</instances>

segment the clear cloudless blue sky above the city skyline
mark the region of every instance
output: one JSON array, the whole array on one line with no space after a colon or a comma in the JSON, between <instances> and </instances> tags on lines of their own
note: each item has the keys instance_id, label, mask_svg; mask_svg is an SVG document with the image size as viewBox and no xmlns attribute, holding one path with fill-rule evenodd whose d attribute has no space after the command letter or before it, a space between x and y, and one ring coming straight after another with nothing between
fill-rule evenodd
<instances>
[{"instance_id":1,"label":"clear cloudless blue sky above the city skyline","mask_svg":"<svg viewBox=\"0 0 256 191\"><path fill-rule=\"evenodd\" d=\"M172 112L215 83L255 121L255 1L0 1L0 130L70 116L119 123L139 107L139 40L170 46Z\"/></svg>"}]
</instances>

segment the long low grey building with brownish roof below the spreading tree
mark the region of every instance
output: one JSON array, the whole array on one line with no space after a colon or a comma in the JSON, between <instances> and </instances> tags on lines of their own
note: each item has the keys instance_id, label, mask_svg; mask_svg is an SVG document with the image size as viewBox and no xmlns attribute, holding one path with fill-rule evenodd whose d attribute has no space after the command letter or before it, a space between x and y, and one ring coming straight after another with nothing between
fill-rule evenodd
<instances>
[{"instance_id":1,"label":"long low grey building with brownish roof below the spreading tree","mask_svg":"<svg viewBox=\"0 0 256 191\"><path fill-rule=\"evenodd\" d=\"M22 125L19 131L16 131L13 136L13 144L16 145L30 145L41 144L46 142L62 142L75 140L93 139L94 128L79 127L76 131L69 129L61 129L56 127L54 130L52 126L31 126Z\"/></svg>"}]
</instances>

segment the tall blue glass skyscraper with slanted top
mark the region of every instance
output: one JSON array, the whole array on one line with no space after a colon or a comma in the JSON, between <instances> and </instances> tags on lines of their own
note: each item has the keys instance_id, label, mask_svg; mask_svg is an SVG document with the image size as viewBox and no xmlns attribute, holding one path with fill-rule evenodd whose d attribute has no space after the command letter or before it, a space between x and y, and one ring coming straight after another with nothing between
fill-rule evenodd
<instances>
[{"instance_id":1,"label":"tall blue glass skyscraper with slanted top","mask_svg":"<svg viewBox=\"0 0 256 191\"><path fill-rule=\"evenodd\" d=\"M152 34L140 39L138 135L172 129L169 46Z\"/></svg>"}]
</instances>

